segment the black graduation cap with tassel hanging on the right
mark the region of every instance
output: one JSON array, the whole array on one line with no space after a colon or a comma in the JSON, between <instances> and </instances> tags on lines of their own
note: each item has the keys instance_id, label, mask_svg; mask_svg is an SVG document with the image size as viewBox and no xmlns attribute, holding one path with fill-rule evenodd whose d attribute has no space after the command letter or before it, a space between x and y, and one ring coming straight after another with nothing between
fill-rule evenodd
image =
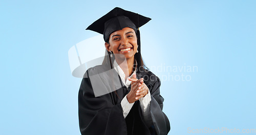
<instances>
[{"instance_id":1,"label":"black graduation cap with tassel hanging on the right","mask_svg":"<svg viewBox=\"0 0 256 135\"><path fill-rule=\"evenodd\" d=\"M139 53L136 53L135 55L138 55L136 57L136 60L137 60L137 64L140 66L141 53L140 53L139 27L143 26L150 20L151 18L142 16L138 13L126 11L116 7L113 10L111 10L109 13L105 14L98 20L94 21L93 24L91 24L86 30L92 30L100 34L103 34L104 41L108 42L111 33L117 30L122 30L123 28L126 28L126 27L134 29L138 37L137 43L139 46L138 47Z\"/></svg>"}]
</instances>

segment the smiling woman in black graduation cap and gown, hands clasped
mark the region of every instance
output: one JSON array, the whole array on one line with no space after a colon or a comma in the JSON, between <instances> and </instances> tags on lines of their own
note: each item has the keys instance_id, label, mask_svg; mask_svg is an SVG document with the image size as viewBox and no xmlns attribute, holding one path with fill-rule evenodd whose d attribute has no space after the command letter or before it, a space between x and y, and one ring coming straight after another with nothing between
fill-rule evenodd
<instances>
[{"instance_id":1,"label":"smiling woman in black graduation cap and gown, hands clasped","mask_svg":"<svg viewBox=\"0 0 256 135\"><path fill-rule=\"evenodd\" d=\"M169 132L160 79L145 69L140 53L139 27L150 20L114 8L87 28L103 34L106 53L102 65L90 68L81 82L78 111L82 135Z\"/></svg>"}]
</instances>

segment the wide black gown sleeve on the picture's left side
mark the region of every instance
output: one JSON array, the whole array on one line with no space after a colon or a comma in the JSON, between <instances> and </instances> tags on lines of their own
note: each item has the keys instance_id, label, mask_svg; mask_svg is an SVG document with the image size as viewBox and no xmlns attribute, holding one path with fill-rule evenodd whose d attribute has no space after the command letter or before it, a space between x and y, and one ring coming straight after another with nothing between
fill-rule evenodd
<instances>
[{"instance_id":1,"label":"wide black gown sleeve on the picture's left side","mask_svg":"<svg viewBox=\"0 0 256 135\"><path fill-rule=\"evenodd\" d=\"M127 134L120 103L111 94L95 97L90 78L83 78L78 93L79 127L82 135Z\"/></svg>"}]
</instances>

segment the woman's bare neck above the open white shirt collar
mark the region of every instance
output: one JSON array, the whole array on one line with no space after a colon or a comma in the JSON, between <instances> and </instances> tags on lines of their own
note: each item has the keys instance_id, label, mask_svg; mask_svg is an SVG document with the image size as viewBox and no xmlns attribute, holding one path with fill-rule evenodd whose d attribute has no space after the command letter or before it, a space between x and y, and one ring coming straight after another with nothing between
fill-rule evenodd
<instances>
[{"instance_id":1,"label":"woman's bare neck above the open white shirt collar","mask_svg":"<svg viewBox=\"0 0 256 135\"><path fill-rule=\"evenodd\" d=\"M125 79L133 74L134 57L130 59L126 59L126 62L124 62L123 60L116 59L116 62L120 66L120 68L123 70L125 74Z\"/></svg>"}]
</instances>

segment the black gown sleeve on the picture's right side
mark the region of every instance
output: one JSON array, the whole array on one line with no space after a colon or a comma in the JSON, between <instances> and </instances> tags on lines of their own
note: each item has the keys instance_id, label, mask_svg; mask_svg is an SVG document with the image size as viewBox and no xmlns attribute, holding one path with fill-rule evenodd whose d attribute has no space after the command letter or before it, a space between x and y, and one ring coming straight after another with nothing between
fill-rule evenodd
<instances>
[{"instance_id":1,"label":"black gown sleeve on the picture's right side","mask_svg":"<svg viewBox=\"0 0 256 135\"><path fill-rule=\"evenodd\" d=\"M170 124L167 116L163 113L163 97L160 95L160 79L156 77L155 83L150 83L147 87L151 93L150 113L153 125L152 130L155 130L158 135L166 135L170 130Z\"/></svg>"}]
</instances>

